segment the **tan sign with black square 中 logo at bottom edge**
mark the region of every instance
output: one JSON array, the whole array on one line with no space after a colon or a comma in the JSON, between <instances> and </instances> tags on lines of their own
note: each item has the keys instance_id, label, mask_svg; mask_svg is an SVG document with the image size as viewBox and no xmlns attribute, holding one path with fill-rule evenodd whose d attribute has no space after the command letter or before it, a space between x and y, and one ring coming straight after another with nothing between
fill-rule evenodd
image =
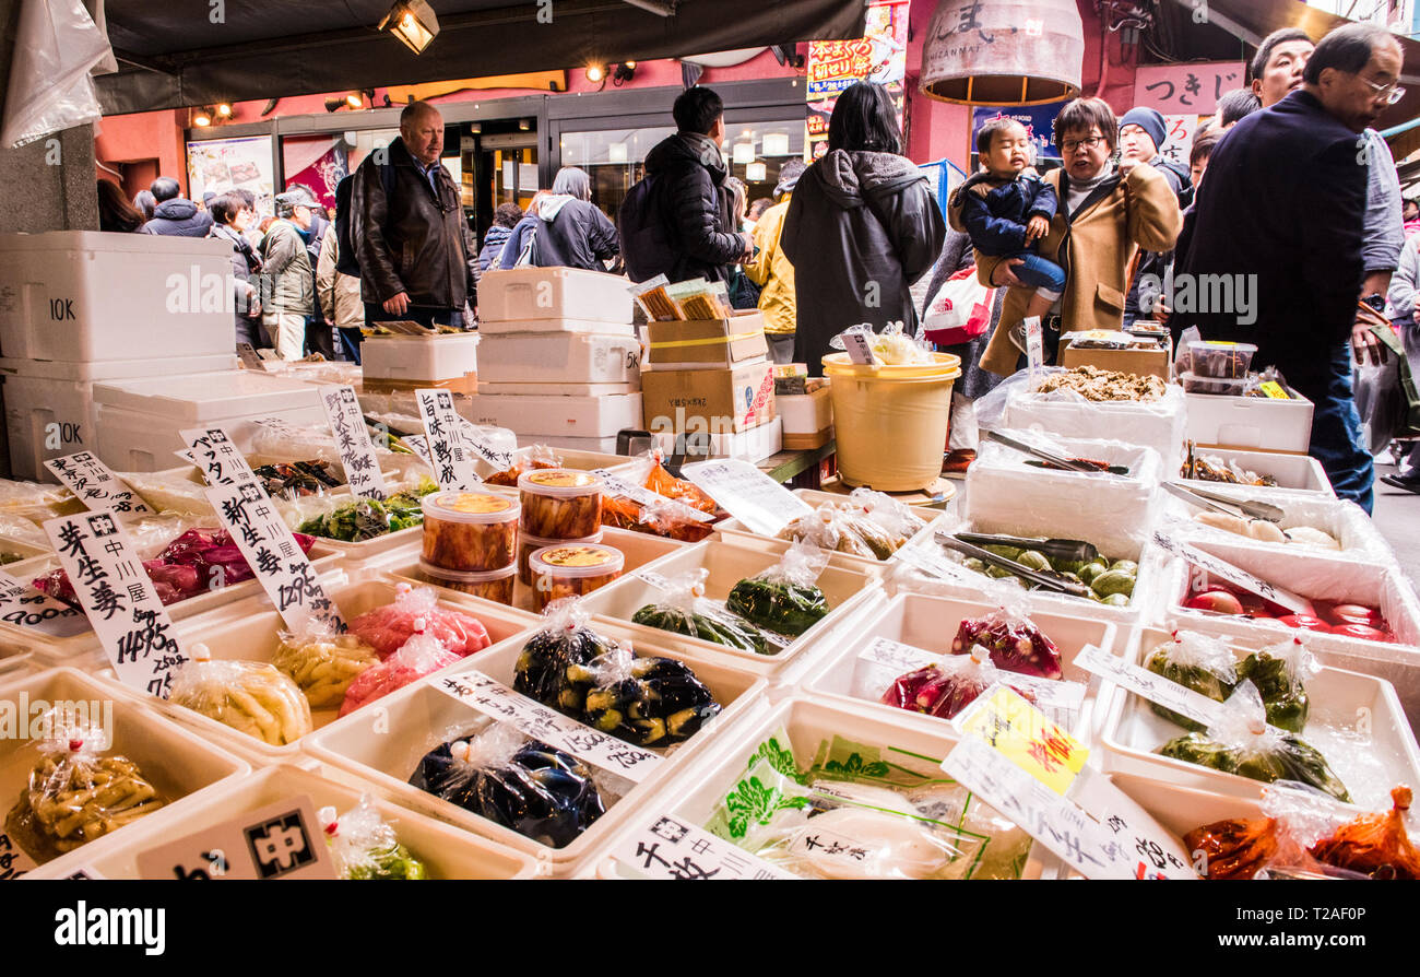
<instances>
[{"instance_id":1,"label":"tan sign with black square \u4e2d logo at bottom edge","mask_svg":"<svg viewBox=\"0 0 1420 977\"><path fill-rule=\"evenodd\" d=\"M142 879L335 879L310 795L248 811L138 853Z\"/></svg>"}]
</instances>

